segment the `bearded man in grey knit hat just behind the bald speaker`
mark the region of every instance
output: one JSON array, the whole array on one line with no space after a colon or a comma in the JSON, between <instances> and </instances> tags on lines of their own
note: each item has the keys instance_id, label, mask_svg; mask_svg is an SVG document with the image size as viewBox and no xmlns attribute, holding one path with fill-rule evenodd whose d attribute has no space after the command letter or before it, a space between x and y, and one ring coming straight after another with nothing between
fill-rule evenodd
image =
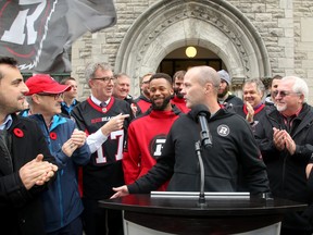
<instances>
[{"instance_id":1,"label":"bearded man in grey knit hat just behind the bald speaker","mask_svg":"<svg viewBox=\"0 0 313 235\"><path fill-rule=\"evenodd\" d=\"M243 101L236 97L235 95L229 92L231 79L229 74L225 71L218 71L217 72L221 77L221 84L218 87L217 98L220 104L226 107L226 106L242 106Z\"/></svg>"}]
</instances>

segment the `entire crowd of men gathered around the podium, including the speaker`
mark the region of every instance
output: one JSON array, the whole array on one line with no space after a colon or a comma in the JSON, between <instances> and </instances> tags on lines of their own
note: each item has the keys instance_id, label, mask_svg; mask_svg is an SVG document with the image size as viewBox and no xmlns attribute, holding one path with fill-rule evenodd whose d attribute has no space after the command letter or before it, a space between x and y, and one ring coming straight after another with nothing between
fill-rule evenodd
<instances>
[{"instance_id":1,"label":"entire crowd of men gathered around the podium, including the speaker","mask_svg":"<svg viewBox=\"0 0 313 235\"><path fill-rule=\"evenodd\" d=\"M247 79L239 98L225 70L195 66L173 77L143 75L134 99L130 77L108 63L88 63L85 78L90 96L78 101L74 77L37 74L24 83L17 62L0 58L0 224L10 234L122 235L122 212L98 200L198 190L200 108L212 140L202 149L205 191L311 205L313 110L304 79L275 76L267 97L260 78ZM281 235L312 232L310 206L284 215Z\"/></svg>"}]
</instances>

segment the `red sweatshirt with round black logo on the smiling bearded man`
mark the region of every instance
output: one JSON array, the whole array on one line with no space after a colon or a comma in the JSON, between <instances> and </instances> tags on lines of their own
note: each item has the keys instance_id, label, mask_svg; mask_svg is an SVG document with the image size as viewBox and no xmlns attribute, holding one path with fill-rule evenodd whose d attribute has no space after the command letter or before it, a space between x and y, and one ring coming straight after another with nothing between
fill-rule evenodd
<instances>
[{"instance_id":1,"label":"red sweatshirt with round black logo on the smiling bearded man","mask_svg":"<svg viewBox=\"0 0 313 235\"><path fill-rule=\"evenodd\" d=\"M150 110L130 123L127 149L123 158L126 184L134 183L155 164L167 133L179 113L180 110L175 106L171 111ZM165 187L163 185L160 190L165 190Z\"/></svg>"}]
</instances>

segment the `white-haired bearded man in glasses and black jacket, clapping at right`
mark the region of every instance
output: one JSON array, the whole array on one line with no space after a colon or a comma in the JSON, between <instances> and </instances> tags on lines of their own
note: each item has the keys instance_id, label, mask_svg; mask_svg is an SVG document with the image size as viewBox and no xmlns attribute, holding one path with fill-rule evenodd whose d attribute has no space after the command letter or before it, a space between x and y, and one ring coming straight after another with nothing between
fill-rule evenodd
<instances>
[{"instance_id":1,"label":"white-haired bearded man in glasses and black jacket, clapping at right","mask_svg":"<svg viewBox=\"0 0 313 235\"><path fill-rule=\"evenodd\" d=\"M313 109L306 103L306 83L284 77L275 91L275 106L259 120L255 138L267 166L270 187L275 197L310 203L305 168L313 156ZM309 171L309 170L308 170ZM281 235L312 234L312 212L288 213Z\"/></svg>"}]
</instances>

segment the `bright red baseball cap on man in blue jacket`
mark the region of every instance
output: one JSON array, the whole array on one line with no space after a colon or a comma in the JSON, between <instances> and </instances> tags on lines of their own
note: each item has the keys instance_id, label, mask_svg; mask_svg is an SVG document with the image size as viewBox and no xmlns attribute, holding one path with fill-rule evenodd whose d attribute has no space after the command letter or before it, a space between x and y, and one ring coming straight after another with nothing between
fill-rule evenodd
<instances>
[{"instance_id":1,"label":"bright red baseball cap on man in blue jacket","mask_svg":"<svg viewBox=\"0 0 313 235\"><path fill-rule=\"evenodd\" d=\"M25 82L29 91L26 96L33 94L61 94L71 89L70 85L61 85L48 74L36 74Z\"/></svg>"}]
</instances>

